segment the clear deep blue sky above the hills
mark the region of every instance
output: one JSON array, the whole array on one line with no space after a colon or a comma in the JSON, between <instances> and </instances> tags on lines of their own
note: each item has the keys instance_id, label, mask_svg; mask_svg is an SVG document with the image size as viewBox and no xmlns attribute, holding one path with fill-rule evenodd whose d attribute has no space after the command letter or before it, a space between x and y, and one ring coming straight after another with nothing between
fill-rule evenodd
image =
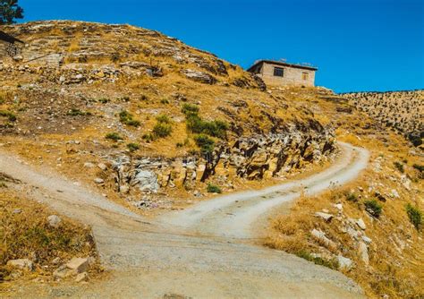
<instances>
[{"instance_id":1,"label":"clear deep blue sky above the hills","mask_svg":"<svg viewBox=\"0 0 424 299\"><path fill-rule=\"evenodd\" d=\"M424 0L20 0L23 21L129 23L247 68L318 66L338 92L424 89Z\"/></svg>"}]
</instances>

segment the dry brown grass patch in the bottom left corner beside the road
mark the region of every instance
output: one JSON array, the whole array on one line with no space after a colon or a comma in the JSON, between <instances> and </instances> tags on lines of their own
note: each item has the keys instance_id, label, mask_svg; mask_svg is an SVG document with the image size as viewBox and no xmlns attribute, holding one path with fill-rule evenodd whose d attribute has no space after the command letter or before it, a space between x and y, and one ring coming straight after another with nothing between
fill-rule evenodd
<instances>
[{"instance_id":1,"label":"dry brown grass patch in the bottom left corner beside the road","mask_svg":"<svg viewBox=\"0 0 424 299\"><path fill-rule=\"evenodd\" d=\"M97 257L89 227L62 216L59 227L48 226L47 217L55 212L8 188L12 183L4 178L0 180L4 183L0 187L0 280L38 276L48 280L58 267L52 264L55 258L64 262L75 256ZM5 265L14 259L34 261L35 270L16 272Z\"/></svg>"}]
</instances>

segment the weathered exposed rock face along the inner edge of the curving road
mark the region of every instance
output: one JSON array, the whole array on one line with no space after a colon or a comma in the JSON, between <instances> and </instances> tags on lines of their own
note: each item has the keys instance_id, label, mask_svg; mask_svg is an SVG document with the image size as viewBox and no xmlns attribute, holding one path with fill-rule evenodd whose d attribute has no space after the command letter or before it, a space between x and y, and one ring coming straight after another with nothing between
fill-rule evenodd
<instances>
[{"instance_id":1,"label":"weathered exposed rock face along the inner edge of the curving road","mask_svg":"<svg viewBox=\"0 0 424 299\"><path fill-rule=\"evenodd\" d=\"M282 177L293 169L328 158L335 152L331 132L285 132L242 137L229 145L221 142L208 157L138 158L120 156L114 161L117 190L157 192L160 187L184 187L215 175L237 175L249 180Z\"/></svg>"}]
</instances>

